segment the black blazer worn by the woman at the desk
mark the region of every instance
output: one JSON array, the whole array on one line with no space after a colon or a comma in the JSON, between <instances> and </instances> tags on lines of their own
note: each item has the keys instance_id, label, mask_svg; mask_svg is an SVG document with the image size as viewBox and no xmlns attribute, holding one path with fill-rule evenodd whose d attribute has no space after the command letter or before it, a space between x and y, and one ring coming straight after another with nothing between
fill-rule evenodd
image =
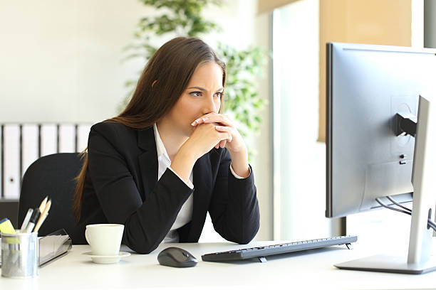
<instances>
[{"instance_id":1,"label":"black blazer worn by the woman at the desk","mask_svg":"<svg viewBox=\"0 0 436 290\"><path fill-rule=\"evenodd\" d=\"M180 242L198 242L209 210L224 239L246 244L259 230L259 204L253 171L237 179L227 149L212 149L194 164L194 190L167 169L157 181L155 133L116 122L93 125L88 139L88 168L81 219L73 242L86 244L85 226L125 225L123 244L139 253L162 242L183 203L194 191L192 220L178 231Z\"/></svg>"}]
</instances>

